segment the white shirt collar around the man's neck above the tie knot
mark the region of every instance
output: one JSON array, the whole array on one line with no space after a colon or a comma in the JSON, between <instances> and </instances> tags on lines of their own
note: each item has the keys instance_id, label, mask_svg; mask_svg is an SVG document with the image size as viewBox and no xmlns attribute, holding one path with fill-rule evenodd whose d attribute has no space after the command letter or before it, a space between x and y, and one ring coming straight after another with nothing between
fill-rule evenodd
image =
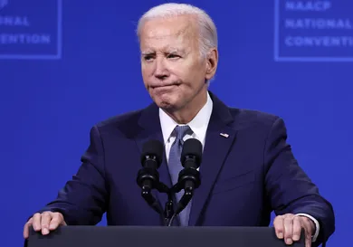
<instances>
[{"instance_id":1,"label":"white shirt collar around the man's neck above the tie knot","mask_svg":"<svg viewBox=\"0 0 353 247\"><path fill-rule=\"evenodd\" d=\"M211 118L212 108L213 102L209 93L207 92L207 101L205 106L200 109L194 119L186 124L193 130L195 138L202 142L205 141L205 132L208 126L208 122ZM162 128L164 144L166 144L174 128L176 128L177 123L174 119L170 118L163 109L159 109L159 119Z\"/></svg>"}]
</instances>

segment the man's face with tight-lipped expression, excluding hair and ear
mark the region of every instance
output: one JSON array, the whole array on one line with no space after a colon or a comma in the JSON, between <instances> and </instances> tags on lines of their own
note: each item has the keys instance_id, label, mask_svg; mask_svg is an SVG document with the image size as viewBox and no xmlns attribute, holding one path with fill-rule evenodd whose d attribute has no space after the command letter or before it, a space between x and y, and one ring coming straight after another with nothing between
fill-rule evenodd
<instances>
[{"instance_id":1,"label":"man's face with tight-lipped expression, excluding hair and ear","mask_svg":"<svg viewBox=\"0 0 353 247\"><path fill-rule=\"evenodd\" d=\"M157 18L142 27L142 77L162 109L183 109L207 91L207 62L201 58L195 20L192 16Z\"/></svg>"}]
</instances>

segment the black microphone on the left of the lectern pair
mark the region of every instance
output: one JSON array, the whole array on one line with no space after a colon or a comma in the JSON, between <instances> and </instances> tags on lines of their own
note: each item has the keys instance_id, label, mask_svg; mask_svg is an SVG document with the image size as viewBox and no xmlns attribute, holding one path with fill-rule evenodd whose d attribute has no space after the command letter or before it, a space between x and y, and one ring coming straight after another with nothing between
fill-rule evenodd
<instances>
[{"instance_id":1,"label":"black microphone on the left of the lectern pair","mask_svg":"<svg viewBox=\"0 0 353 247\"><path fill-rule=\"evenodd\" d=\"M162 163L163 145L157 140L149 140L142 147L141 165L143 168L138 170L137 183L142 189L141 195L145 201L158 213L163 214L160 205L151 191L159 188L159 174L157 168Z\"/></svg>"}]
</instances>

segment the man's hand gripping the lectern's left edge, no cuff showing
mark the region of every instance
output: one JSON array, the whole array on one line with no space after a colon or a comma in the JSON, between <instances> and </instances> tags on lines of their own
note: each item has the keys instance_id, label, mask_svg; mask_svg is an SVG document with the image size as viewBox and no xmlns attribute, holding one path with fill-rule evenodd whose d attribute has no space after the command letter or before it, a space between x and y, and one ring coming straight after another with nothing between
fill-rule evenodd
<instances>
[{"instance_id":1,"label":"man's hand gripping the lectern's left edge, no cuff showing","mask_svg":"<svg viewBox=\"0 0 353 247\"><path fill-rule=\"evenodd\" d=\"M42 231L42 234L46 235L49 234L50 231L58 228L59 225L66 225L61 213L46 211L42 214L34 214L33 217L24 224L24 238L28 238L31 226L33 226L34 231Z\"/></svg>"}]
</instances>

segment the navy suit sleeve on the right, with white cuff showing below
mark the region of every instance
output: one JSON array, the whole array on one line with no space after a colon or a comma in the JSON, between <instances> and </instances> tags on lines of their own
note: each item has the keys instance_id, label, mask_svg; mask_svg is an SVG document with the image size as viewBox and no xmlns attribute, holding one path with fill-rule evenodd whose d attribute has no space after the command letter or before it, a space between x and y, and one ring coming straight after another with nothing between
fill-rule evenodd
<instances>
[{"instance_id":1,"label":"navy suit sleeve on the right, with white cuff showing below","mask_svg":"<svg viewBox=\"0 0 353 247\"><path fill-rule=\"evenodd\" d=\"M265 186L275 214L310 214L320 223L315 245L326 241L335 231L332 205L298 165L282 119L276 119L264 148ZM308 150L310 152L310 150Z\"/></svg>"}]
</instances>

